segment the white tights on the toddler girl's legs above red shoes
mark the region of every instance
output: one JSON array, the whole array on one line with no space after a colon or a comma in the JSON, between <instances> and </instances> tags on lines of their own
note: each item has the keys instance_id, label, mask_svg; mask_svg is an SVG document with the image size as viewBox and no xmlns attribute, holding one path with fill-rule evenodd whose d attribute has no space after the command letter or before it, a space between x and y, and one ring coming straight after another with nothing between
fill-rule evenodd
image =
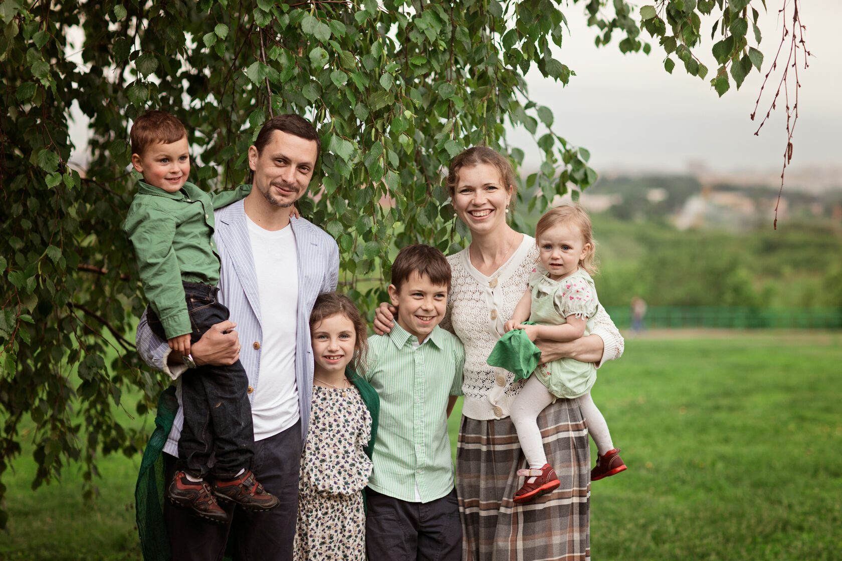
<instances>
[{"instance_id":1,"label":"white tights on the toddler girl's legs above red shoes","mask_svg":"<svg viewBox=\"0 0 842 561\"><path fill-rule=\"evenodd\" d=\"M538 428L536 420L541 411L554 399L555 396L533 374L526 380L524 388L520 390L520 394L514 399L514 405L512 405L512 422L518 431L520 447L523 448L529 467L533 469L541 469L546 463L541 429ZM594 443L600 451L600 456L604 456L614 447L605 417L597 409L594 400L590 397L590 392L578 397L578 405L588 425L590 436L594 438Z\"/></svg>"}]
</instances>

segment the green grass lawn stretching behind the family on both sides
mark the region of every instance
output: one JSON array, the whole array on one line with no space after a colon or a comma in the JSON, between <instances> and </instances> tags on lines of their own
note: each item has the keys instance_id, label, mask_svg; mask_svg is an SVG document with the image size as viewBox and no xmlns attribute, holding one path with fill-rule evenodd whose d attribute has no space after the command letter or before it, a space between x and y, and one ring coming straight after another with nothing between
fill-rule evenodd
<instances>
[{"instance_id":1,"label":"green grass lawn stretching behind the family on both sides","mask_svg":"<svg viewBox=\"0 0 842 561\"><path fill-rule=\"evenodd\" d=\"M838 332L626 341L594 388L630 468L593 485L593 558L840 558L840 365ZM140 458L104 458L99 498L86 505L73 466L60 484L30 490L29 456L4 478L11 519L0 559L140 558Z\"/></svg>"}]
</instances>

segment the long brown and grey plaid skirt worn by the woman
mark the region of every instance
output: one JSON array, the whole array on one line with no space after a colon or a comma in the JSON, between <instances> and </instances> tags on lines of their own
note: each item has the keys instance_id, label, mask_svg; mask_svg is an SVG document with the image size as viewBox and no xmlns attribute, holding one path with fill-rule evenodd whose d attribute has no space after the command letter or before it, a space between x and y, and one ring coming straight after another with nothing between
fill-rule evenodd
<instances>
[{"instance_id":1,"label":"long brown and grey plaid skirt worn by the woman","mask_svg":"<svg viewBox=\"0 0 842 561\"><path fill-rule=\"evenodd\" d=\"M538 426L547 462L562 484L515 505L526 468L511 419L462 416L456 452L456 491L463 529L462 561L589 561L590 453L576 400L557 400Z\"/></svg>"}]
</instances>

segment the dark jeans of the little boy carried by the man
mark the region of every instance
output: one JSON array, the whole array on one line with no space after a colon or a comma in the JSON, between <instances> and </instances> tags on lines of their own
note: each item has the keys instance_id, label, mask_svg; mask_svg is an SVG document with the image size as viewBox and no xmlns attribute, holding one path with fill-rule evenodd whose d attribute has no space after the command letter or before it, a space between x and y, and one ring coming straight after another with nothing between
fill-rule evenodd
<instances>
[{"instance_id":1,"label":"dark jeans of the little boy carried by the man","mask_svg":"<svg viewBox=\"0 0 842 561\"><path fill-rule=\"evenodd\" d=\"M193 330L192 345L211 325L227 320L229 314L216 299L219 288L183 284ZM167 339L151 307L147 308L147 321L152 332ZM218 479L232 479L242 468L251 468L254 429L247 390L248 376L240 361L231 366L206 364L181 375L184 426L179 437L179 458L188 474L204 479L211 453L215 459L212 471Z\"/></svg>"}]
</instances>

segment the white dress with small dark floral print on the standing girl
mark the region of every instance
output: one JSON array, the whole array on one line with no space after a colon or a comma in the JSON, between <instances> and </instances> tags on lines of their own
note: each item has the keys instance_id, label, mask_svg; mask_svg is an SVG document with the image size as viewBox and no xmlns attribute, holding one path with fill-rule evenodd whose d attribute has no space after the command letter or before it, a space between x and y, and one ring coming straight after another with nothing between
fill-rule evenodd
<instances>
[{"instance_id":1,"label":"white dress with small dark floral print on the standing girl","mask_svg":"<svg viewBox=\"0 0 842 561\"><path fill-rule=\"evenodd\" d=\"M371 415L356 388L313 386L301 456L294 559L365 561L362 490L371 475L363 452Z\"/></svg>"}]
</instances>

